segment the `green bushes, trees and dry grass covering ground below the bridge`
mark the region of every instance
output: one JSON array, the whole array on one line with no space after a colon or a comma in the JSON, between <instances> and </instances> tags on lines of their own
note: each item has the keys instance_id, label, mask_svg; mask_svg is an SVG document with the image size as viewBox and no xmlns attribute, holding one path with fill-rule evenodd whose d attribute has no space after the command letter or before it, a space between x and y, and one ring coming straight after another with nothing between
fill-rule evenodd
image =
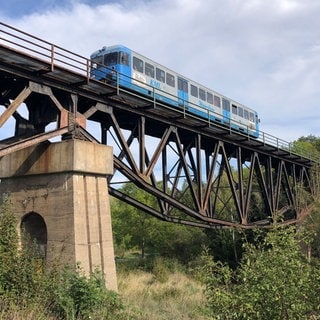
<instances>
[{"instance_id":1,"label":"green bushes, trees and dry grass covering ground below the bridge","mask_svg":"<svg viewBox=\"0 0 320 320\"><path fill-rule=\"evenodd\" d=\"M99 271L46 266L31 239L20 249L4 203L0 319L320 319L319 199L299 226L247 231L170 224L116 199L112 207L119 293Z\"/></svg>"}]
</instances>

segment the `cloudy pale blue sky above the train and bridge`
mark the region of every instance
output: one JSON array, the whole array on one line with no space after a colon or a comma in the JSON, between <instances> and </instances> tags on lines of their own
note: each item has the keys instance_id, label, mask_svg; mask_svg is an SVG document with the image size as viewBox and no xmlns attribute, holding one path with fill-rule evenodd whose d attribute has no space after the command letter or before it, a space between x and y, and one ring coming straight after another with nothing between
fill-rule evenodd
<instances>
[{"instance_id":1,"label":"cloudy pale blue sky above the train and bridge","mask_svg":"<svg viewBox=\"0 0 320 320\"><path fill-rule=\"evenodd\" d=\"M319 16L319 0L0 0L6 24L85 57L126 45L289 142L320 137Z\"/></svg>"}]
</instances>

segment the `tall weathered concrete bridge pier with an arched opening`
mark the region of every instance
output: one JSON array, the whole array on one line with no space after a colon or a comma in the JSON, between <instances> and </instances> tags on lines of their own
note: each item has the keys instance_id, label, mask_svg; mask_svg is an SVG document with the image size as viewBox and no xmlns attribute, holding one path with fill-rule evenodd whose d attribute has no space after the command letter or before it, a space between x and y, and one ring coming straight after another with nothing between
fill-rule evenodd
<instances>
[{"instance_id":1,"label":"tall weathered concrete bridge pier with an arched opening","mask_svg":"<svg viewBox=\"0 0 320 320\"><path fill-rule=\"evenodd\" d=\"M41 216L48 261L80 263L85 273L101 270L117 290L107 176L111 147L80 140L45 143L0 159L0 195L8 196L23 225ZM28 227L37 231L37 224ZM37 240L36 235L34 236Z\"/></svg>"}]
</instances>

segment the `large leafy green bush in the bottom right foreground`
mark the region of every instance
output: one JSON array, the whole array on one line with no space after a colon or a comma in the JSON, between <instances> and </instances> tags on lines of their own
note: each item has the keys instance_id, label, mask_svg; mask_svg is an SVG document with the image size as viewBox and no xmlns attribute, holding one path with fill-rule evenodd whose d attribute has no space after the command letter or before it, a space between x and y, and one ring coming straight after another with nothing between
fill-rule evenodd
<instances>
[{"instance_id":1,"label":"large leafy green bush in the bottom right foreground","mask_svg":"<svg viewBox=\"0 0 320 320\"><path fill-rule=\"evenodd\" d=\"M201 269L213 319L310 319L319 316L319 268L301 253L293 228L256 235L235 271L204 254Z\"/></svg>"}]
</instances>

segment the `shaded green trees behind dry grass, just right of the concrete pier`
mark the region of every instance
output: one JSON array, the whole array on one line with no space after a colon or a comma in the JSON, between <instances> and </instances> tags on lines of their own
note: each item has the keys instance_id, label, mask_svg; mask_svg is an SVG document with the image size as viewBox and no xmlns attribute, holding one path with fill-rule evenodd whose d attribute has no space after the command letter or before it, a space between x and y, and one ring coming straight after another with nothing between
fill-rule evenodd
<instances>
[{"instance_id":1,"label":"shaded green trees behind dry grass, just right of the concrete pier","mask_svg":"<svg viewBox=\"0 0 320 320\"><path fill-rule=\"evenodd\" d=\"M150 207L157 206L150 195L134 184L126 184L122 192ZM115 251L119 257L125 251L139 249L143 258L146 254L157 254L186 263L200 255L201 246L206 243L201 229L160 221L117 199L112 199L111 208Z\"/></svg>"}]
</instances>

